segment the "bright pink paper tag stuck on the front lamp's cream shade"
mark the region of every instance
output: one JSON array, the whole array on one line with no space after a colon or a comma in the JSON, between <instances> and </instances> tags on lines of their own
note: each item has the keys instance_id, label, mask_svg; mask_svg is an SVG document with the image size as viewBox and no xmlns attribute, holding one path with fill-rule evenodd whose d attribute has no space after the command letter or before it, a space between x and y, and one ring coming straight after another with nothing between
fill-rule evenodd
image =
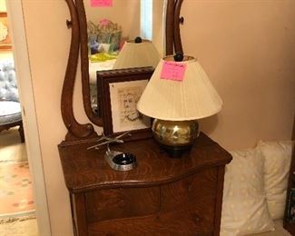
<instances>
[{"instance_id":1,"label":"bright pink paper tag stuck on the front lamp's cream shade","mask_svg":"<svg viewBox=\"0 0 295 236\"><path fill-rule=\"evenodd\" d=\"M182 81L186 70L186 64L164 62L161 78L166 80Z\"/></svg>"}]
</instances>

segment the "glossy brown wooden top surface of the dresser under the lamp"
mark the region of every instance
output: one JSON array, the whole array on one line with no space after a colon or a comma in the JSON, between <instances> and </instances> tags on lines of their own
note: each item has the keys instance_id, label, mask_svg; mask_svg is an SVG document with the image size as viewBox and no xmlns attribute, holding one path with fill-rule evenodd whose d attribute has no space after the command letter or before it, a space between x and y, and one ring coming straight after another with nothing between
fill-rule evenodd
<instances>
[{"instance_id":1,"label":"glossy brown wooden top surface of the dresser under the lamp","mask_svg":"<svg viewBox=\"0 0 295 236\"><path fill-rule=\"evenodd\" d=\"M131 171L111 169L104 159L106 147L87 150L95 143L61 143L58 145L64 171L64 181L70 192L85 192L98 188L147 186L181 179L203 168L231 162L231 154L207 135L200 133L191 152L181 158L171 158L152 138L113 144L111 149L131 152L137 166Z\"/></svg>"}]
</instances>

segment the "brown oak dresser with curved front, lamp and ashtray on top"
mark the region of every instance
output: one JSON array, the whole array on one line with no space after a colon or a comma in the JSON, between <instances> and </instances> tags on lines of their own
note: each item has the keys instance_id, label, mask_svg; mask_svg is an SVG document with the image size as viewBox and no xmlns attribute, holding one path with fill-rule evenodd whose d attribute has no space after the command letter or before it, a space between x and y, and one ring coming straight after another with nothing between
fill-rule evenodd
<instances>
[{"instance_id":1,"label":"brown oak dresser with curved front, lamp and ashtray on top","mask_svg":"<svg viewBox=\"0 0 295 236\"><path fill-rule=\"evenodd\" d=\"M225 164L231 154L201 133L191 152L170 158L150 139L113 144L137 166L114 171L105 147L61 143L75 235L219 235Z\"/></svg>"}]
</instances>

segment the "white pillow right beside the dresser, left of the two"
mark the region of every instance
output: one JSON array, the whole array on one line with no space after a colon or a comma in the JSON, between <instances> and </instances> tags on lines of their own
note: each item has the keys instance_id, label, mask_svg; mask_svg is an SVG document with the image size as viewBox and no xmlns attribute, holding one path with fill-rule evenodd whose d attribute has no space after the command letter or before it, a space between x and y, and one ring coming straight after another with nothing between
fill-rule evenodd
<instances>
[{"instance_id":1,"label":"white pillow right beside the dresser, left of the two","mask_svg":"<svg viewBox=\"0 0 295 236\"><path fill-rule=\"evenodd\" d=\"M263 159L257 148L231 152L225 167L221 236L273 231L263 186Z\"/></svg>"}]
</instances>

